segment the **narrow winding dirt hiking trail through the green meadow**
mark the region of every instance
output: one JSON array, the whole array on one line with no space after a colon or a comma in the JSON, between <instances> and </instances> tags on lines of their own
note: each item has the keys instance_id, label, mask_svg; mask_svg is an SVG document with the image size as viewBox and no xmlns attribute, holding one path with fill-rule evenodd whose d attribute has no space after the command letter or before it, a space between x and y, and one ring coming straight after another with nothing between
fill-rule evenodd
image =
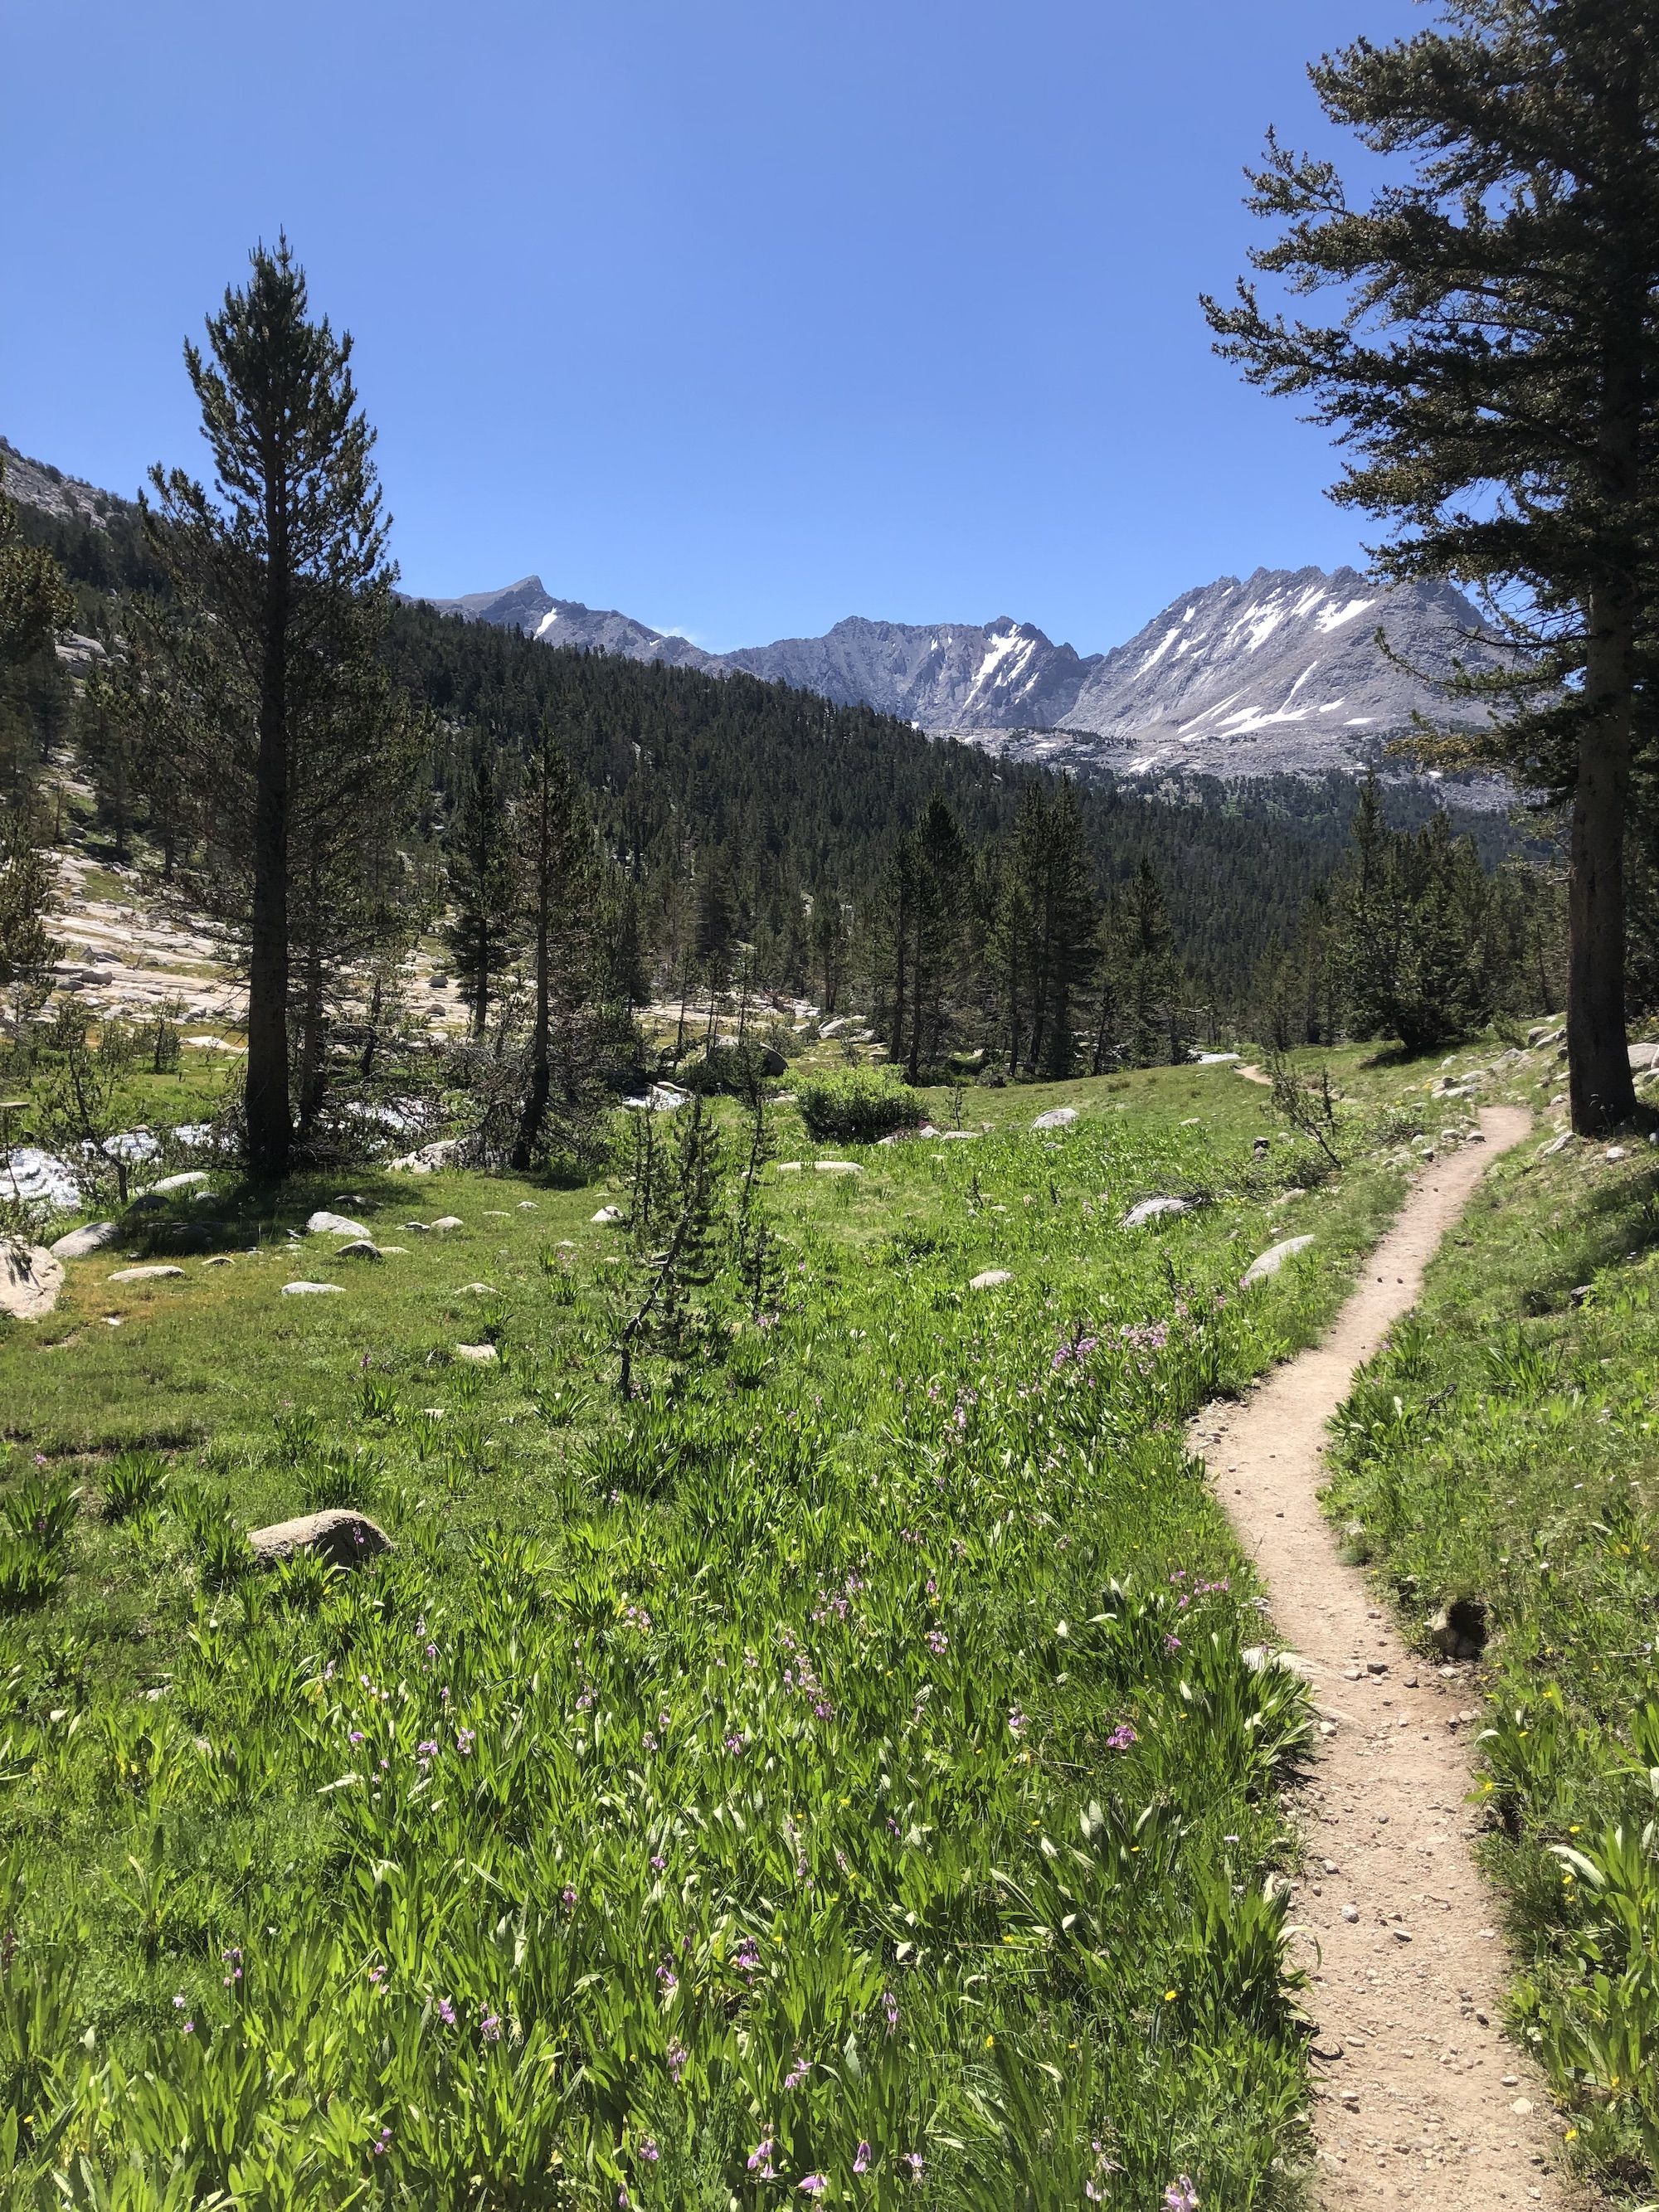
<instances>
[{"instance_id":1,"label":"narrow winding dirt hiking trail through the green meadow","mask_svg":"<svg viewBox=\"0 0 1659 2212\"><path fill-rule=\"evenodd\" d=\"M1336 1327L1254 1396L1208 1407L1192 1451L1256 1559L1321 1714L1298 1792L1292 1922L1310 1973L1318 2199L1338 2205L1584 2205L1537 2068L1500 2031L1498 1900L1471 1856L1473 1668L1416 1659L1321 1513L1325 1422L1422 1290L1442 1234L1531 1117L1420 1175Z\"/></svg>"}]
</instances>

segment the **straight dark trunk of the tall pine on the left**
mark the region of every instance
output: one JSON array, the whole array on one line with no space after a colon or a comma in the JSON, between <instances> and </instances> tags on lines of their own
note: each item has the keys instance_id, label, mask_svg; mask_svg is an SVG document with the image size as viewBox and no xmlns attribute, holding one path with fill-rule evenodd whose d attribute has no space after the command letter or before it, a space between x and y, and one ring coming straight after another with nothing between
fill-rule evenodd
<instances>
[{"instance_id":1,"label":"straight dark trunk of the tall pine on the left","mask_svg":"<svg viewBox=\"0 0 1659 2212\"><path fill-rule=\"evenodd\" d=\"M254 885L248 933L248 1166L288 1172L288 529L281 465L268 460L272 515L254 759Z\"/></svg>"}]
</instances>

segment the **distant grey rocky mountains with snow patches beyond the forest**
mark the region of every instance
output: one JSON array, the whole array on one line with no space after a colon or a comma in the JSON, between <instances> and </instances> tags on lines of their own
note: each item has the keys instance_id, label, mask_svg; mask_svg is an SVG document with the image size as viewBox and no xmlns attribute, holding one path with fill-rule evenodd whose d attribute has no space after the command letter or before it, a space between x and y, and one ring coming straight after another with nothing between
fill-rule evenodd
<instances>
[{"instance_id":1,"label":"distant grey rocky mountains with snow patches beyond the forest","mask_svg":"<svg viewBox=\"0 0 1659 2212\"><path fill-rule=\"evenodd\" d=\"M1088 657L1006 615L987 624L852 615L823 637L712 655L626 615L555 599L540 577L431 604L544 644L712 675L741 668L836 706L869 706L1082 772L1354 770L1409 730L1413 714L1478 721L1467 701L1449 706L1440 681L1460 659L1478 670L1498 659L1473 606L1449 584L1383 586L1356 568L1219 577L1183 593L1128 644Z\"/></svg>"}]
</instances>

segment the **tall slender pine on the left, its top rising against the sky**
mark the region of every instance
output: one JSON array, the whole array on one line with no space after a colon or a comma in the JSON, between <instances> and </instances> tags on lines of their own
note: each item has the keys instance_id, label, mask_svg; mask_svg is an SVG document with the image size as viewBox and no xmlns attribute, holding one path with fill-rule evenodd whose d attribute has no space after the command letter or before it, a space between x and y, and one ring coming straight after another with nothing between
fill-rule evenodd
<instances>
[{"instance_id":1,"label":"tall slender pine on the left, its top rising against the sky","mask_svg":"<svg viewBox=\"0 0 1659 2212\"><path fill-rule=\"evenodd\" d=\"M383 832L369 763L389 708L378 648L394 571L352 341L310 319L288 239L250 259L248 285L208 319L208 352L184 349L217 482L150 471L150 549L175 606L150 608L133 681L161 688L188 748L175 768L195 894L246 958L248 1161L281 1175L296 865L343 805L363 801L358 818Z\"/></svg>"}]
</instances>

